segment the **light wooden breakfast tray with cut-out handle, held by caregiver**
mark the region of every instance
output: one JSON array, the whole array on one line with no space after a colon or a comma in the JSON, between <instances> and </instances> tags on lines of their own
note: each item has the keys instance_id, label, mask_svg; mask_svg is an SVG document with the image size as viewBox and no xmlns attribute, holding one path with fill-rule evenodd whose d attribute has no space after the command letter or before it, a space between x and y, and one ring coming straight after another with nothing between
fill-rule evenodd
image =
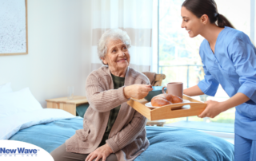
<instances>
[{"instance_id":1,"label":"light wooden breakfast tray with cut-out handle, held by caregiver","mask_svg":"<svg viewBox=\"0 0 256 161\"><path fill-rule=\"evenodd\" d=\"M136 100L130 98L127 102L132 108L140 112L142 116L145 116L148 120L163 120L163 119L173 119L178 117L187 117L187 116L198 116L206 108L206 104L194 100L190 96L183 95L183 100L190 100L189 103L180 103L180 104L169 104L162 106L160 108L150 109L144 104L148 103L147 100ZM190 105L189 108L183 108L185 105ZM182 108L178 108L183 106ZM186 106L187 107L187 106ZM174 109L173 109L174 108Z\"/></svg>"}]
</instances>

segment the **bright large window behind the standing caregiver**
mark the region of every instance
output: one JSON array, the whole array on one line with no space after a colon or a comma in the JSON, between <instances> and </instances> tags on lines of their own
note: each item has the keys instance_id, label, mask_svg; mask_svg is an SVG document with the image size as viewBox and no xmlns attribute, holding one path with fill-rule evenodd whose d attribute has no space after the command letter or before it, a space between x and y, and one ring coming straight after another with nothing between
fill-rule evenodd
<instances>
[{"instance_id":1,"label":"bright large window behind the standing caregiver","mask_svg":"<svg viewBox=\"0 0 256 161\"><path fill-rule=\"evenodd\" d=\"M186 29L181 28L182 2L184 0L158 0L158 73L166 74L163 84L182 81L184 88L189 88L198 84L204 77L199 56L199 46L204 38L200 35L190 38ZM254 41L255 3L253 7L250 6L254 0L215 2L218 13L226 16L236 29L243 31ZM203 95L197 96L196 99L224 101L229 99L229 96L219 86L216 96ZM215 132L234 132L234 113L235 108L230 108L214 119L191 116L167 120L166 124Z\"/></svg>"}]
</instances>

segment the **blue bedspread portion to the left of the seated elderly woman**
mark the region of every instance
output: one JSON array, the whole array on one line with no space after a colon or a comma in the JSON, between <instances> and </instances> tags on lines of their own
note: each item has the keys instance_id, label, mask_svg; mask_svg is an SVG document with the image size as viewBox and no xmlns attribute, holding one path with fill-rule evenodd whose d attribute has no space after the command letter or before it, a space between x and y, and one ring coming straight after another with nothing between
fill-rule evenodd
<instances>
[{"instance_id":1,"label":"blue bedspread portion to the left of the seated elderly woman","mask_svg":"<svg viewBox=\"0 0 256 161\"><path fill-rule=\"evenodd\" d=\"M10 139L32 143L50 153L65 143L78 129L82 129L82 118L74 117L22 129Z\"/></svg>"}]
</instances>

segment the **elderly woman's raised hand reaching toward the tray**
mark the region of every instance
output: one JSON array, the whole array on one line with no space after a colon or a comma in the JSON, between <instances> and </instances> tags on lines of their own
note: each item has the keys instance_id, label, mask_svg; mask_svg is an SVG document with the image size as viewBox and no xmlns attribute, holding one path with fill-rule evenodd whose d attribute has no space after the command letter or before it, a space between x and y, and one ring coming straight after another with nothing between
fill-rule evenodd
<instances>
[{"instance_id":1,"label":"elderly woman's raised hand reaching toward the tray","mask_svg":"<svg viewBox=\"0 0 256 161\"><path fill-rule=\"evenodd\" d=\"M130 86L126 86L124 88L124 94L127 99L130 97L136 98L136 99L142 99L145 96L149 94L150 91L152 91L152 85L147 84L134 84Z\"/></svg>"}]
</instances>

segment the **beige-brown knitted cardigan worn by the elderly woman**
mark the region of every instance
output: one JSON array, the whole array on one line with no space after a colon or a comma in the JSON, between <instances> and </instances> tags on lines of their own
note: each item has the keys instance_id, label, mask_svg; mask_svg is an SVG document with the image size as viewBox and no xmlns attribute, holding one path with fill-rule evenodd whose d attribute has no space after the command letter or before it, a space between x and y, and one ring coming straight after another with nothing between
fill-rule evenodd
<instances>
[{"instance_id":1,"label":"beige-brown knitted cardigan worn by the elderly woman","mask_svg":"<svg viewBox=\"0 0 256 161\"><path fill-rule=\"evenodd\" d=\"M148 78L130 67L126 70L125 86L150 84ZM83 120L83 129L66 140L66 151L89 154L102 141L110 110L121 104L118 117L106 143L118 160L134 160L149 147L146 138L146 118L126 104L123 87L114 89L110 69L94 70L86 80L86 96L90 103Z\"/></svg>"}]
</instances>

